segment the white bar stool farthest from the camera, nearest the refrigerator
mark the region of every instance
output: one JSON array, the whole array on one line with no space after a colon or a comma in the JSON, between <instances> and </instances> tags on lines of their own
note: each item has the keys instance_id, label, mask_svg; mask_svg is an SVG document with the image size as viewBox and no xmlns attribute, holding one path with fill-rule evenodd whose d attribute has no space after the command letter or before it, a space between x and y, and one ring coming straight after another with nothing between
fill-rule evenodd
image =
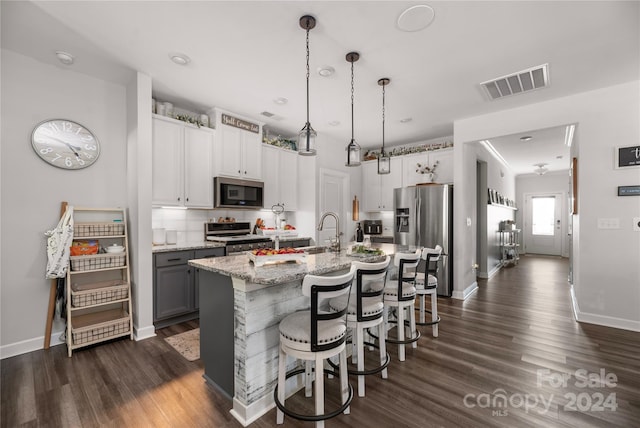
<instances>
[{"instance_id":1,"label":"white bar stool farthest from the camera, nearest the refrigerator","mask_svg":"<svg viewBox=\"0 0 640 428\"><path fill-rule=\"evenodd\" d=\"M424 272L418 272L416 274L416 295L419 300L420 311L418 325L430 325L432 326L433 337L438 337L438 323L440 317L438 316L438 261L442 254L442 247L436 245L436 248L425 248L422 250L422 260L424 263ZM426 281L425 281L426 278ZM431 296L431 322L425 321L425 313L429 312L425 310L426 296Z\"/></svg>"}]
</instances>

